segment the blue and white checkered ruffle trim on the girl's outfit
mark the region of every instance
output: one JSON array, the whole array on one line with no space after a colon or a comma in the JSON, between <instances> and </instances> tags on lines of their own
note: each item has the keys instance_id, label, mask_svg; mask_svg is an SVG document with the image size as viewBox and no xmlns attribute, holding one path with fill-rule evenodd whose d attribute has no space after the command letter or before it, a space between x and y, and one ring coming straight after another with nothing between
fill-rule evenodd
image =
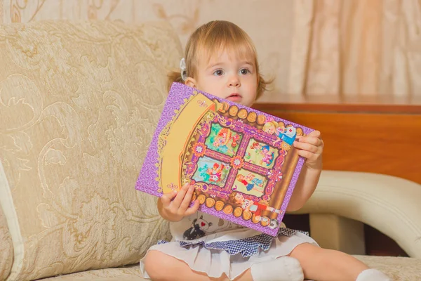
<instances>
[{"instance_id":1,"label":"blue and white checkered ruffle trim on the girl's outfit","mask_svg":"<svg viewBox=\"0 0 421 281\"><path fill-rule=\"evenodd\" d=\"M295 233L300 232L304 233L305 235L309 235L309 233L301 230L293 230L289 228L279 228L278 236L292 236ZM263 251L267 251L271 244L274 237L267 235L267 234L260 234L253 237L248 237L240 240L228 240L228 241L220 241L220 242L211 242L206 243L204 241L201 242L185 242L179 241L181 247L192 247L192 246L203 246L206 249L218 249L218 250L225 250L230 255L241 254L243 257L253 256L254 254L258 254L259 249ZM160 240L158 244L165 244L168 243L166 241Z\"/></svg>"}]
</instances>

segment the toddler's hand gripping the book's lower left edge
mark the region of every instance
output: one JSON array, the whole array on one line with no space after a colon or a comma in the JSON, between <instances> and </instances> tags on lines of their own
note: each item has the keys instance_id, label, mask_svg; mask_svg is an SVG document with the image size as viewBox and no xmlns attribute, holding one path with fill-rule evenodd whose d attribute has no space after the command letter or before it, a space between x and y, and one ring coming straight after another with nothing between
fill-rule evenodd
<instances>
[{"instance_id":1,"label":"toddler's hand gripping the book's lower left edge","mask_svg":"<svg viewBox=\"0 0 421 281\"><path fill-rule=\"evenodd\" d=\"M167 221L181 221L185 216L196 213L199 209L199 200L195 200L192 207L189 207L192 201L194 185L186 183L180 191L173 191L162 195L158 200L159 214Z\"/></svg>"}]
</instances>

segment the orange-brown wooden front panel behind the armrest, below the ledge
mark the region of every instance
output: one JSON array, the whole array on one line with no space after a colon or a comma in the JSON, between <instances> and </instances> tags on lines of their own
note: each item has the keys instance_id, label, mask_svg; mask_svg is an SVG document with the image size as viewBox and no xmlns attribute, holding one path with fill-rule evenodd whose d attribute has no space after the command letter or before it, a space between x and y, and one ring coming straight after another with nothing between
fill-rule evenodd
<instances>
[{"instance_id":1,"label":"orange-brown wooden front panel behind the armrest, below the ledge","mask_svg":"<svg viewBox=\"0 0 421 281\"><path fill-rule=\"evenodd\" d=\"M321 131L323 169L388 174L421 183L421 115L267 113Z\"/></svg>"}]
</instances>

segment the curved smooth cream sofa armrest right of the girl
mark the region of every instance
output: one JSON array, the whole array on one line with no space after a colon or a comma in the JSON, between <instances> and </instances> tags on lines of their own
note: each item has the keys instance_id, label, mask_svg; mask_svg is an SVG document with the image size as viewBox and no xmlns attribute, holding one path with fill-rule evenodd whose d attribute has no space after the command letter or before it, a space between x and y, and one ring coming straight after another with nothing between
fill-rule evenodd
<instances>
[{"instance_id":1,"label":"curved smooth cream sofa armrest right of the girl","mask_svg":"<svg viewBox=\"0 0 421 281\"><path fill-rule=\"evenodd\" d=\"M336 214L361 221L421 258L421 185L403 178L323 171L314 195L294 214Z\"/></svg>"}]
</instances>

